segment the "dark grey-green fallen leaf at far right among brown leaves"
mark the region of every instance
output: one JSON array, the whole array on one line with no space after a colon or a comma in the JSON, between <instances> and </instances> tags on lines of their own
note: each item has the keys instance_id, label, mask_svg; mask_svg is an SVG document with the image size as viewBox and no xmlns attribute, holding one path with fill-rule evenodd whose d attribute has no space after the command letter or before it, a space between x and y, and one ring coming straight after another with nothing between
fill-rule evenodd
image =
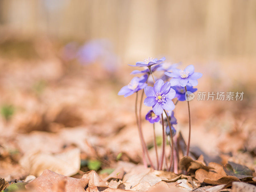
<instances>
[{"instance_id":1,"label":"dark grey-green fallen leaf at far right among brown leaves","mask_svg":"<svg viewBox=\"0 0 256 192\"><path fill-rule=\"evenodd\" d=\"M227 173L227 175L235 176L238 179L253 178L253 172L248 167L231 161L228 161L228 164L224 165L224 171Z\"/></svg>"}]
</instances>

